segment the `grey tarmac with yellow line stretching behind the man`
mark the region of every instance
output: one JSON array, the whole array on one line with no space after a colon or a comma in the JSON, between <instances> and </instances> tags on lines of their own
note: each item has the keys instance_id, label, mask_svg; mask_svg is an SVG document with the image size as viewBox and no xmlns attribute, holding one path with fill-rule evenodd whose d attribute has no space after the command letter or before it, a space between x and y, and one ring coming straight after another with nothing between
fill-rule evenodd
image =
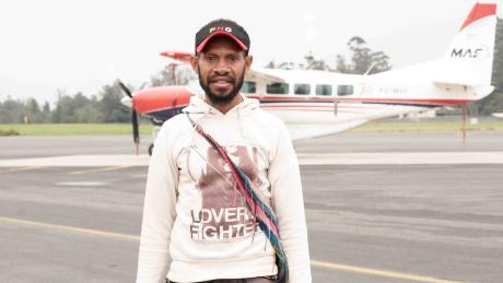
<instances>
[{"instance_id":1,"label":"grey tarmac with yellow line stretching behind the man","mask_svg":"<svg viewBox=\"0 0 503 283\"><path fill-rule=\"evenodd\" d=\"M314 282L501 282L503 132L467 138L295 142ZM0 148L0 282L133 282L149 157L131 138Z\"/></svg>"}]
</instances>

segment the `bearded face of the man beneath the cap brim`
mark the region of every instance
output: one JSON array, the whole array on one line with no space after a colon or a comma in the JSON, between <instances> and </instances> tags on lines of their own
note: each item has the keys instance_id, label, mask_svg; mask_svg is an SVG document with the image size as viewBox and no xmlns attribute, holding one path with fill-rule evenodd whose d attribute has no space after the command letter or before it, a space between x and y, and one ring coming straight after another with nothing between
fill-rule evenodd
<instances>
[{"instance_id":1,"label":"bearded face of the man beneath the cap brim","mask_svg":"<svg viewBox=\"0 0 503 283\"><path fill-rule=\"evenodd\" d=\"M214 37L192 60L192 68L199 74L199 83L211 103L226 105L233 101L243 86L245 70L253 58L231 38Z\"/></svg>"}]
</instances>

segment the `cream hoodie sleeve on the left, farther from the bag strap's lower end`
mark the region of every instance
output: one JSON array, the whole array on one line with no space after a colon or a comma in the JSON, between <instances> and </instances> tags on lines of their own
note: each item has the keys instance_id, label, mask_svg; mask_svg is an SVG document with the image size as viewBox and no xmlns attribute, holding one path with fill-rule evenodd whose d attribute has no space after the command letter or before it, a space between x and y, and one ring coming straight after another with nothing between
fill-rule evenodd
<instances>
[{"instance_id":1,"label":"cream hoodie sleeve on the left, farther from the bag strap's lower end","mask_svg":"<svg viewBox=\"0 0 503 283\"><path fill-rule=\"evenodd\" d=\"M165 282L169 236L176 217L178 170L163 126L155 140L143 207L137 283Z\"/></svg>"}]
</instances>

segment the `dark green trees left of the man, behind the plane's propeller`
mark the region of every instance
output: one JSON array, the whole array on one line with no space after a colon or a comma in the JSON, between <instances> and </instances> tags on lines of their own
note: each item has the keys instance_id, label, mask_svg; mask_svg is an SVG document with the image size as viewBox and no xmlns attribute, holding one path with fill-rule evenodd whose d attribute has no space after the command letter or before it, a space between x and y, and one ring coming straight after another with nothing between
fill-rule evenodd
<instances>
[{"instance_id":1,"label":"dark green trees left of the man, behind the plane's propeller","mask_svg":"<svg viewBox=\"0 0 503 283\"><path fill-rule=\"evenodd\" d=\"M186 85L194 79L189 67L169 64L150 78L147 84ZM134 91L132 85L128 85ZM124 106L120 99L125 96L120 87L112 82L104 85L95 95L84 95L82 92L69 93L57 91L54 106L48 102L39 104L35 98L0 99L0 123L113 123L130 122L131 109ZM0 97L1 93L0 93Z\"/></svg>"}]
</instances>

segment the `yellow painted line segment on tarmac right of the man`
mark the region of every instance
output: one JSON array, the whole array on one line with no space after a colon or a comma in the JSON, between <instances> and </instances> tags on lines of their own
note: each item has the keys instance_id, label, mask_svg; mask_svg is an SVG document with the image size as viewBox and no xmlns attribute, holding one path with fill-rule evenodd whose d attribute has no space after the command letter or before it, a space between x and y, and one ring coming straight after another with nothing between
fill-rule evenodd
<instances>
[{"instance_id":1,"label":"yellow painted line segment on tarmac right of the man","mask_svg":"<svg viewBox=\"0 0 503 283\"><path fill-rule=\"evenodd\" d=\"M416 281L416 282L461 283L459 281L442 280L442 279L435 279L435 278L430 278L430 276L420 276L420 275L414 275L414 274L399 273L399 272L378 270L378 269L361 268L361 267L316 261L316 260L312 260L311 266L315 268L328 268L328 269L335 269L335 270L353 272L353 273L363 273L367 275L376 275L376 276L383 276L383 278L403 279L403 280L410 280L410 281Z\"/></svg>"}]
</instances>

